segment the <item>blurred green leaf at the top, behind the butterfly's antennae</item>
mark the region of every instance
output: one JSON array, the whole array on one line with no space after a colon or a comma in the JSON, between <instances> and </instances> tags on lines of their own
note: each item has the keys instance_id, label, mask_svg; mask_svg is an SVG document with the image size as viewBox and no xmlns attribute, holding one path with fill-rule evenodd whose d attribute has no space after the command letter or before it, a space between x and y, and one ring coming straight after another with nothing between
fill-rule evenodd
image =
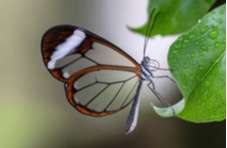
<instances>
[{"instance_id":1,"label":"blurred green leaf at the top, behind the butterfly's antennae","mask_svg":"<svg viewBox=\"0 0 227 148\"><path fill-rule=\"evenodd\" d=\"M189 30L204 16L215 0L149 0L148 15L155 8L160 15L151 36L179 34ZM149 20L139 28L130 30L145 35Z\"/></svg>"}]
</instances>

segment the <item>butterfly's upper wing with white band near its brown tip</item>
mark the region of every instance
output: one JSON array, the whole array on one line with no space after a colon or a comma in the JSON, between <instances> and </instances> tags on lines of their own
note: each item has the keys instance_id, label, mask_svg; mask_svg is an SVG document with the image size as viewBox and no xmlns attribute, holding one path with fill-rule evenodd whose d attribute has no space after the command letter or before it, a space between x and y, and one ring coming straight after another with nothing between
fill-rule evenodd
<instances>
[{"instance_id":1,"label":"butterfly's upper wing with white band near its brown tip","mask_svg":"<svg viewBox=\"0 0 227 148\"><path fill-rule=\"evenodd\" d=\"M74 73L95 65L135 67L130 56L101 37L74 26L57 26L42 39L44 63L58 80L65 81Z\"/></svg>"}]
</instances>

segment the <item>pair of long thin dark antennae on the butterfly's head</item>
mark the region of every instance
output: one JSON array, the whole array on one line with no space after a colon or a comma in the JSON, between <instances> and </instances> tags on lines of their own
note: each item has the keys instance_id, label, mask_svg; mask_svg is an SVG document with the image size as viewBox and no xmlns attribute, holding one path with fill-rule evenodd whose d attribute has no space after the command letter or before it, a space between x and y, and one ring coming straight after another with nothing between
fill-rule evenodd
<instances>
[{"instance_id":1,"label":"pair of long thin dark antennae on the butterfly's head","mask_svg":"<svg viewBox=\"0 0 227 148\"><path fill-rule=\"evenodd\" d=\"M149 20L148 20L148 24L147 24L147 29L146 29L146 34L145 34L145 39L144 39L144 47L143 47L143 58L145 57L146 54L146 49L147 49L147 45L148 45L148 41L149 41L149 37L151 35L151 32L154 28L154 24L160 14L160 12L158 12L155 17L154 17L154 21L152 23L152 16L154 14L155 8L151 10L150 15L149 15Z\"/></svg>"}]
</instances>

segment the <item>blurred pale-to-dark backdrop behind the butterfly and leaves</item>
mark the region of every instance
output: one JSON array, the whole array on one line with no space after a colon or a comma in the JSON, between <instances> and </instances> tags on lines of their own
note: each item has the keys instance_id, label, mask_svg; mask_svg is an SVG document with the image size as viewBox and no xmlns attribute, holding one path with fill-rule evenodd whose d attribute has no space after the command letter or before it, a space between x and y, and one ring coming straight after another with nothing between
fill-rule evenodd
<instances>
[{"instance_id":1,"label":"blurred pale-to-dark backdrop behind the butterfly and leaves","mask_svg":"<svg viewBox=\"0 0 227 148\"><path fill-rule=\"evenodd\" d=\"M91 30L139 62L144 37L126 27L142 25L146 8L147 1L140 0L1 0L0 148L224 148L225 121L195 124L159 117L146 89L137 128L125 135L129 108L104 118L81 115L67 102L63 84L46 70L40 40L58 24ZM152 39L148 55L165 67L176 37Z\"/></svg>"}]
</instances>

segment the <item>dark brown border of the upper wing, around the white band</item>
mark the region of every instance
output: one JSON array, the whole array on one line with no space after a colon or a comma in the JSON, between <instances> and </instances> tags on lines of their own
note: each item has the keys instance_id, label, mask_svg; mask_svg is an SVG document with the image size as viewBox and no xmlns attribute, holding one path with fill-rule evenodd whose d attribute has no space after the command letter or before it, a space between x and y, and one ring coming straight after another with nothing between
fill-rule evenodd
<instances>
[{"instance_id":1,"label":"dark brown border of the upper wing, around the white band","mask_svg":"<svg viewBox=\"0 0 227 148\"><path fill-rule=\"evenodd\" d=\"M64 42L77 29L79 29L80 31L82 31L86 34L85 41L80 46L79 53L81 55L85 54L88 50L90 50L90 46L92 45L93 42L97 42L97 43L105 45L105 46L113 49L117 53L121 54L122 56L127 58L129 61L131 61L138 70L140 70L140 65L131 56L129 56L127 53L125 53L123 50L121 50L119 47L117 47L113 43L103 39L102 37L90 32L86 29L83 29L83 28L77 27L77 26L72 26L72 25L54 26L54 27L48 29L44 33L42 40L41 40L41 54L42 54L43 62L47 69L48 69L47 64L50 61L51 55L55 51L55 47L57 47L59 44ZM51 73L51 75L53 75L59 81L65 82L66 79L63 77L60 69L54 69L54 70L48 69L48 71Z\"/></svg>"}]
</instances>

